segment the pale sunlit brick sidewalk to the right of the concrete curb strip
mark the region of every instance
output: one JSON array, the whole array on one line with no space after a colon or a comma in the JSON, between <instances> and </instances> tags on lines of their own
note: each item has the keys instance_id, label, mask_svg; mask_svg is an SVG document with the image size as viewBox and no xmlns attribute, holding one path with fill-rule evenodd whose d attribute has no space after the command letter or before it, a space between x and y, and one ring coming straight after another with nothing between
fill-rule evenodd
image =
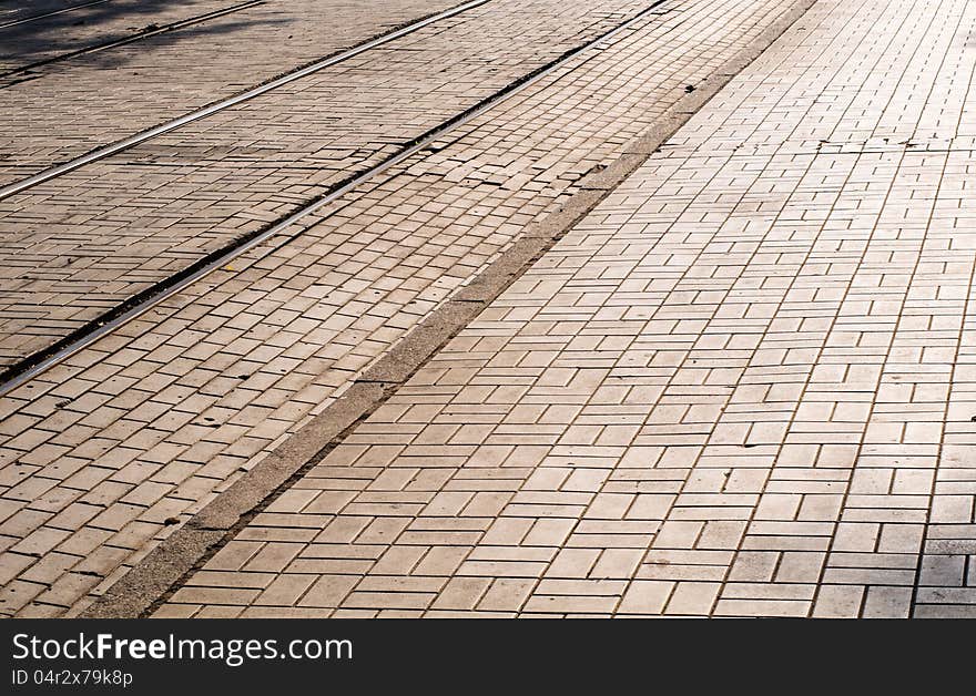
<instances>
[{"instance_id":1,"label":"pale sunlit brick sidewalk to the right of the concrete curb strip","mask_svg":"<svg viewBox=\"0 0 976 696\"><path fill-rule=\"evenodd\" d=\"M817 2L156 615L973 615L974 20Z\"/></svg>"}]
</instances>

